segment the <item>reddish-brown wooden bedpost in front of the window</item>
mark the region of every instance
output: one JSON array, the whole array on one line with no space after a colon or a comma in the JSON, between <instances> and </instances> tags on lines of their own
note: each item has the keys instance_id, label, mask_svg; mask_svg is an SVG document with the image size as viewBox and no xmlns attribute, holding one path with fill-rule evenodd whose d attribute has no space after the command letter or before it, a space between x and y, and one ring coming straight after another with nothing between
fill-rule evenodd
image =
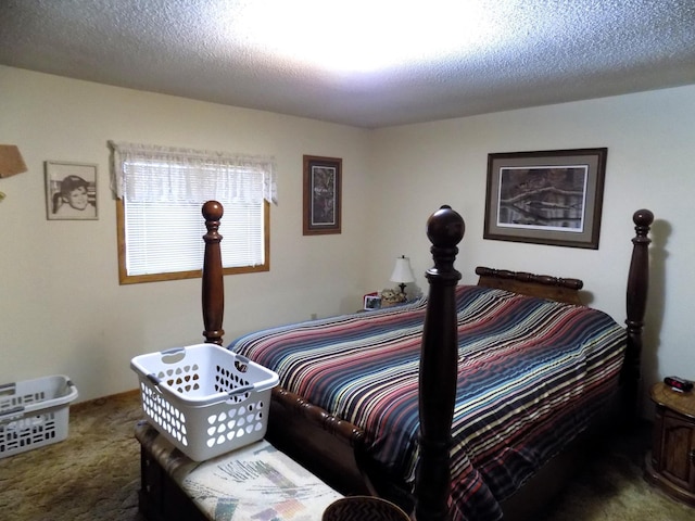
<instances>
[{"instance_id":1,"label":"reddish-brown wooden bedpost in front of the window","mask_svg":"<svg viewBox=\"0 0 695 521\"><path fill-rule=\"evenodd\" d=\"M205 254L203 256L203 335L205 342L222 345L225 331L222 329L223 317L225 315L225 284L222 275L222 253L219 241L222 236L219 219L224 214L224 208L217 201L207 201L203 204L203 217L205 217L205 228L207 233L203 236L205 241Z\"/></svg>"}]
</instances>

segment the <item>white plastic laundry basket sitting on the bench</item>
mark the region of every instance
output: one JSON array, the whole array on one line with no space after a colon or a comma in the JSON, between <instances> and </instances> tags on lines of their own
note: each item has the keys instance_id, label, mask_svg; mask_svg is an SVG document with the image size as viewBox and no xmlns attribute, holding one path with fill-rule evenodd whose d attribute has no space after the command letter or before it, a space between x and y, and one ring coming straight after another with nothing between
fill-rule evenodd
<instances>
[{"instance_id":1,"label":"white plastic laundry basket sitting on the bench","mask_svg":"<svg viewBox=\"0 0 695 521\"><path fill-rule=\"evenodd\" d=\"M136 356L130 368L152 425L192 460L265 436L274 371L215 344Z\"/></svg>"}]
</instances>

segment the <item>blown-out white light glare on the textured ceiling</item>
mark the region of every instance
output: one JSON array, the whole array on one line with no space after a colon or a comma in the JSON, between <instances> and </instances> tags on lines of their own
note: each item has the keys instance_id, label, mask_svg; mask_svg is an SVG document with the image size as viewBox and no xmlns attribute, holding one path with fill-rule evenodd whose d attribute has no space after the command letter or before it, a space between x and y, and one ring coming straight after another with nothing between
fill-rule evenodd
<instances>
[{"instance_id":1,"label":"blown-out white light glare on the textured ceiling","mask_svg":"<svg viewBox=\"0 0 695 521\"><path fill-rule=\"evenodd\" d=\"M491 30L484 3L257 0L217 20L252 49L324 71L368 73L470 52Z\"/></svg>"}]
</instances>

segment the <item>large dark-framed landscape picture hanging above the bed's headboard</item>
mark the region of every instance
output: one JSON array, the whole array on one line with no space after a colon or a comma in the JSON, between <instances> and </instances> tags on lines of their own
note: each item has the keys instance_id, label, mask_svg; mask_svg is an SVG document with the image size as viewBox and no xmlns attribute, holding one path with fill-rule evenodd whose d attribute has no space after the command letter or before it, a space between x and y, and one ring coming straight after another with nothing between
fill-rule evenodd
<instances>
[{"instance_id":1,"label":"large dark-framed landscape picture hanging above the bed's headboard","mask_svg":"<svg viewBox=\"0 0 695 521\"><path fill-rule=\"evenodd\" d=\"M598 250L607 148L488 154L483 239Z\"/></svg>"}]
</instances>

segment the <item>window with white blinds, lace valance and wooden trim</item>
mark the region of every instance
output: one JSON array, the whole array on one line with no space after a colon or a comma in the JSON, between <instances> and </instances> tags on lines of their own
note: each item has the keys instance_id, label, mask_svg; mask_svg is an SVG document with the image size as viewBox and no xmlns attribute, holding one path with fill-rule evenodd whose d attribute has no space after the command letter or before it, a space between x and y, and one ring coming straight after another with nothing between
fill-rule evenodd
<instances>
[{"instance_id":1,"label":"window with white blinds, lace valance and wooden trim","mask_svg":"<svg viewBox=\"0 0 695 521\"><path fill-rule=\"evenodd\" d=\"M200 277L206 232L202 205L225 209L223 272L269 269L271 157L109 143L122 284Z\"/></svg>"}]
</instances>

